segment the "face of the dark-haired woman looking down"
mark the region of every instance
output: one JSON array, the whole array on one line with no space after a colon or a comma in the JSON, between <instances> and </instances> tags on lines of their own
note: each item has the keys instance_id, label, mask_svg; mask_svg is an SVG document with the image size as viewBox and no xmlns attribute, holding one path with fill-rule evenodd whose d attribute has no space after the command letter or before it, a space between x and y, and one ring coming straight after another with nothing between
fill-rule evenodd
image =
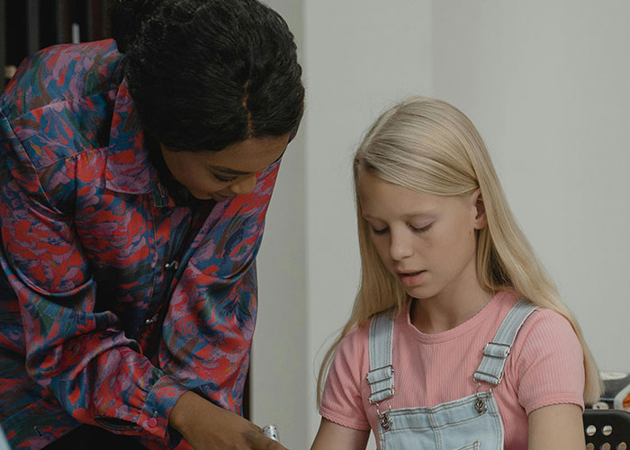
<instances>
[{"instance_id":1,"label":"face of the dark-haired woman looking down","mask_svg":"<svg viewBox=\"0 0 630 450\"><path fill-rule=\"evenodd\" d=\"M251 193L257 175L283 156L289 135L247 139L220 151L172 151L161 146L175 179L199 200L222 202Z\"/></svg>"}]
</instances>

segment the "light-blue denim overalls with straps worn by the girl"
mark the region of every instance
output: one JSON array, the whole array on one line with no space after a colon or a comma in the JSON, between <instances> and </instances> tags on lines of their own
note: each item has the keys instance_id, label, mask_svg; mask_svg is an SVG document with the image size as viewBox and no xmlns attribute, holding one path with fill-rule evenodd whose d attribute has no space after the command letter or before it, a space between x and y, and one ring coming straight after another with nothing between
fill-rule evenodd
<instances>
[{"instance_id":1,"label":"light-blue denim overalls with straps worn by the girl","mask_svg":"<svg viewBox=\"0 0 630 450\"><path fill-rule=\"evenodd\" d=\"M371 391L368 401L378 416L381 450L502 450L503 423L492 388L503 378L518 330L535 310L536 305L521 300L509 311L492 342L483 348L482 363L473 374L477 390L472 395L432 408L399 410L392 410L389 401L395 392L393 320L387 312L375 316L370 324L366 379ZM488 391L481 391L482 383L490 384Z\"/></svg>"}]
</instances>

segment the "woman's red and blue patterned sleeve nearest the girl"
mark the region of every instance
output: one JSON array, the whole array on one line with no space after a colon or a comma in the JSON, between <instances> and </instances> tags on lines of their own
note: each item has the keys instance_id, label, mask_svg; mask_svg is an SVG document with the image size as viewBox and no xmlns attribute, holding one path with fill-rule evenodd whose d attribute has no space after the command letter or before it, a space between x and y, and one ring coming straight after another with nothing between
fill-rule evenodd
<instances>
[{"instance_id":1,"label":"woman's red and blue patterned sleeve nearest the girl","mask_svg":"<svg viewBox=\"0 0 630 450\"><path fill-rule=\"evenodd\" d=\"M175 285L159 365L222 408L242 413L257 313L256 257L280 161L254 191L218 204Z\"/></svg>"}]
</instances>

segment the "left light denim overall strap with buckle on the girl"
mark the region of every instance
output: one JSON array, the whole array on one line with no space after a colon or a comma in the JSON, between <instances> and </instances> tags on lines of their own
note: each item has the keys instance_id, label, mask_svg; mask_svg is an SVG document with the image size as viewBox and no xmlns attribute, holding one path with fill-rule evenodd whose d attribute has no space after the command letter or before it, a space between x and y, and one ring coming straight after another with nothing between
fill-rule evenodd
<instances>
[{"instance_id":1,"label":"left light denim overall strap with buckle on the girl","mask_svg":"<svg viewBox=\"0 0 630 450\"><path fill-rule=\"evenodd\" d=\"M374 316L370 323L370 371L366 380L370 386L371 404L387 400L394 394L392 366L393 320L390 311Z\"/></svg>"}]
</instances>

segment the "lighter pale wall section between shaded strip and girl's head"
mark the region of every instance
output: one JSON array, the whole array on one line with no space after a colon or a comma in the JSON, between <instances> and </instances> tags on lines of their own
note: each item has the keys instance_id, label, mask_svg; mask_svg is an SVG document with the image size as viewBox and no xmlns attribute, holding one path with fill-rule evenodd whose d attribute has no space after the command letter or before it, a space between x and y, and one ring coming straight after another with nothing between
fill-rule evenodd
<instances>
[{"instance_id":1,"label":"lighter pale wall section between shaded strip and girl's head","mask_svg":"<svg viewBox=\"0 0 630 450\"><path fill-rule=\"evenodd\" d=\"M306 261L309 436L320 417L315 374L347 320L358 250L351 155L383 108L431 86L428 0L305 0L308 88ZM322 347L323 346L323 347Z\"/></svg>"}]
</instances>

